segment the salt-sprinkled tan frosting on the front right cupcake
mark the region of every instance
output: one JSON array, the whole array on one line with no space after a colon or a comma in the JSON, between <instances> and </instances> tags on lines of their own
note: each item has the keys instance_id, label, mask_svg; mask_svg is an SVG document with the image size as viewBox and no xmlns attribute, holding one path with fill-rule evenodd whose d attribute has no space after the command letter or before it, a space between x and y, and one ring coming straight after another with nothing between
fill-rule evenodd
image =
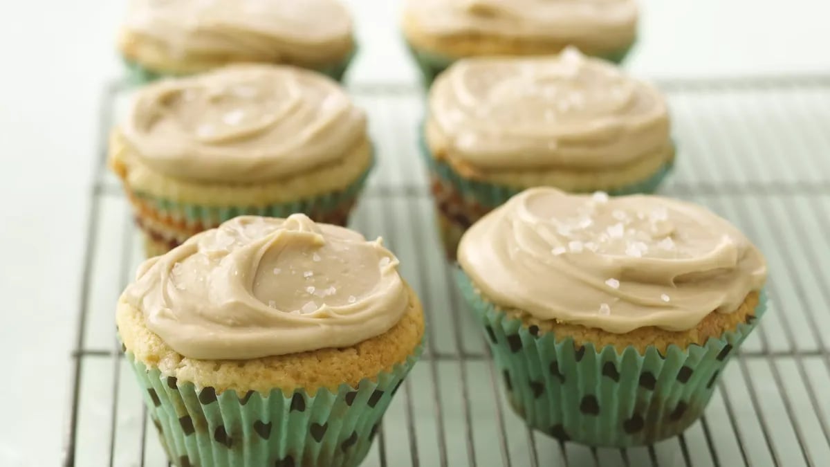
<instances>
[{"instance_id":1,"label":"salt-sprinkled tan frosting on the front right cupcake","mask_svg":"<svg viewBox=\"0 0 830 467\"><path fill-rule=\"evenodd\" d=\"M759 250L725 219L676 199L515 195L469 229L461 268L492 302L607 332L682 331L759 290Z\"/></svg>"}]
</instances>

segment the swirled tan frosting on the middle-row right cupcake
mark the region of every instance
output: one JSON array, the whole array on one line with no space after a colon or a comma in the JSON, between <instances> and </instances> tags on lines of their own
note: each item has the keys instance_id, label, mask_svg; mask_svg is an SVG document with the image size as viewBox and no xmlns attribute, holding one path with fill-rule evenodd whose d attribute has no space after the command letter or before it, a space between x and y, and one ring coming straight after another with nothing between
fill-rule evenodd
<instances>
[{"instance_id":1,"label":"swirled tan frosting on the middle-row right cupcake","mask_svg":"<svg viewBox=\"0 0 830 467\"><path fill-rule=\"evenodd\" d=\"M660 92L574 48L457 61L432 86L429 118L428 143L481 170L608 168L673 154Z\"/></svg>"}]
</instances>

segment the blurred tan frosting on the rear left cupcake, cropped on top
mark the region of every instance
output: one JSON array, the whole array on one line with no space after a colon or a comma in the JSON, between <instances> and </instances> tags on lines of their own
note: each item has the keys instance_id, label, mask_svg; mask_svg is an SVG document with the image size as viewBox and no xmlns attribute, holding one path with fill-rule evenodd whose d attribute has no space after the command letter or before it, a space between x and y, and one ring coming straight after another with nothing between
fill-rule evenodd
<instances>
[{"instance_id":1,"label":"blurred tan frosting on the rear left cupcake, cropped on top","mask_svg":"<svg viewBox=\"0 0 830 467\"><path fill-rule=\"evenodd\" d=\"M325 62L354 47L337 0L131 0L125 29L173 55Z\"/></svg>"}]
</instances>

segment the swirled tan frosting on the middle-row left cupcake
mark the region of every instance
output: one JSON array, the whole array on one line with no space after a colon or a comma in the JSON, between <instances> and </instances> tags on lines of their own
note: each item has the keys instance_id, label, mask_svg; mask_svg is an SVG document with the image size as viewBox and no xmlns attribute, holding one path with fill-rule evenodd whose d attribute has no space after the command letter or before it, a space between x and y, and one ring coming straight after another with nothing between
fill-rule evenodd
<instances>
[{"instance_id":1,"label":"swirled tan frosting on the middle-row left cupcake","mask_svg":"<svg viewBox=\"0 0 830 467\"><path fill-rule=\"evenodd\" d=\"M339 160L366 140L366 117L314 71L234 65L142 88L120 130L161 174L256 182Z\"/></svg>"}]
</instances>

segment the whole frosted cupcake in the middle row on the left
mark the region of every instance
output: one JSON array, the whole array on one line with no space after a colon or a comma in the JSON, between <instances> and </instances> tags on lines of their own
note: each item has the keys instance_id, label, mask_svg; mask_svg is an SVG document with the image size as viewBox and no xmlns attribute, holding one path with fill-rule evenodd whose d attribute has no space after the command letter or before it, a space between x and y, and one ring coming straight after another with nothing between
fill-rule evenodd
<instances>
[{"instance_id":1,"label":"whole frosted cupcake in the middle row on the left","mask_svg":"<svg viewBox=\"0 0 830 467\"><path fill-rule=\"evenodd\" d=\"M372 160L364 112L291 66L145 86L110 142L150 256L242 214L346 224Z\"/></svg>"}]
</instances>

